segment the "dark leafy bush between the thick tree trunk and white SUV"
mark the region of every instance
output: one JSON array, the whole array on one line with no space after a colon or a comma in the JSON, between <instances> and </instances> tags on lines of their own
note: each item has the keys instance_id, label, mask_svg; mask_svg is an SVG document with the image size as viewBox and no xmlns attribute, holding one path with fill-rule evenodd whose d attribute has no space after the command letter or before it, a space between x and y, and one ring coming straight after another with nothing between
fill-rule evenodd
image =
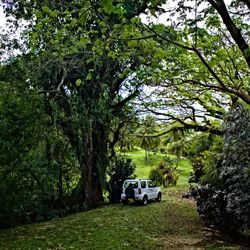
<instances>
[{"instance_id":1,"label":"dark leafy bush between the thick tree trunk and white SUV","mask_svg":"<svg viewBox=\"0 0 250 250\"><path fill-rule=\"evenodd\" d=\"M110 177L107 182L107 191L109 193L110 203L119 203L122 193L122 184L126 179L135 178L135 164L132 159L122 156L116 156L110 161L108 175Z\"/></svg>"}]
</instances>

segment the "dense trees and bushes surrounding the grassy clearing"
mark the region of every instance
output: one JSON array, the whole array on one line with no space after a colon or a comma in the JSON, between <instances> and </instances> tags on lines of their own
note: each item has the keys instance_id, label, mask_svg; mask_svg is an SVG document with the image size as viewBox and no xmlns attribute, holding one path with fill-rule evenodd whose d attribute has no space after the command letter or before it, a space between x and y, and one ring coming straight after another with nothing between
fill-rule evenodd
<instances>
[{"instance_id":1,"label":"dense trees and bushes surrounding the grassy clearing","mask_svg":"<svg viewBox=\"0 0 250 250\"><path fill-rule=\"evenodd\" d=\"M204 221L249 230L249 0L1 2L1 227L117 202L140 147L188 158Z\"/></svg>"}]
</instances>

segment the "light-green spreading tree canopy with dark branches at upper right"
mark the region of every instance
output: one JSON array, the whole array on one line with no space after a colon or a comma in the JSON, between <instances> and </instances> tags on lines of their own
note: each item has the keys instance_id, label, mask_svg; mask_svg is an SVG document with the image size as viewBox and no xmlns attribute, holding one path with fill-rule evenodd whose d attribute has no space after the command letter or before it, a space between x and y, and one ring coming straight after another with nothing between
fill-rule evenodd
<instances>
[{"instance_id":1,"label":"light-green spreading tree canopy with dark branches at upper right","mask_svg":"<svg viewBox=\"0 0 250 250\"><path fill-rule=\"evenodd\" d=\"M145 27L165 48L146 106L182 127L219 134L225 110L236 99L250 101L249 3L177 2L176 12L166 18L171 29Z\"/></svg>"}]
</instances>

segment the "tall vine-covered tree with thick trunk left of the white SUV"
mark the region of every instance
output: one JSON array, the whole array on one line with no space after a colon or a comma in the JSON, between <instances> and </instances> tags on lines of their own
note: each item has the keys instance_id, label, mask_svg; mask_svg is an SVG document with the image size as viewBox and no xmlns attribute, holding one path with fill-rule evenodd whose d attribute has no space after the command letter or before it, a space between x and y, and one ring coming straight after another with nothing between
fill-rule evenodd
<instances>
[{"instance_id":1,"label":"tall vine-covered tree with thick trunk left of the white SUV","mask_svg":"<svg viewBox=\"0 0 250 250\"><path fill-rule=\"evenodd\" d=\"M156 60L156 42L130 41L140 34L137 16L149 6L151 1L20 0L9 10L30 20L28 79L59 110L54 120L77 157L76 199L86 208L103 199L111 122L139 94Z\"/></svg>"}]
</instances>

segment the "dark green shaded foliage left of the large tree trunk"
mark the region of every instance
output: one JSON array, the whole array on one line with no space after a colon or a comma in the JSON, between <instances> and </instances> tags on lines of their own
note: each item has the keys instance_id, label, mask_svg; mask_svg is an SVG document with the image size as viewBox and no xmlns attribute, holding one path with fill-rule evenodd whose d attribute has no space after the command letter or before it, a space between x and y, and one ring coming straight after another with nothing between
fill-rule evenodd
<instances>
[{"instance_id":1,"label":"dark green shaded foliage left of the large tree trunk","mask_svg":"<svg viewBox=\"0 0 250 250\"><path fill-rule=\"evenodd\" d=\"M1 68L1 227L52 218L79 179L72 148L54 126L57 111L22 79L22 67L23 61L16 59Z\"/></svg>"}]
</instances>

